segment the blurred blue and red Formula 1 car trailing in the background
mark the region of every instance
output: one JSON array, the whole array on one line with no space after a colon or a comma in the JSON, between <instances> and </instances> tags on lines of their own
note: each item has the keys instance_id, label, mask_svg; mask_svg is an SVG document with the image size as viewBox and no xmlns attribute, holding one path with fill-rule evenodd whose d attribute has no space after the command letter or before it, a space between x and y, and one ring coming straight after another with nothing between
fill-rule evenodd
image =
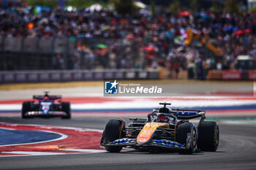
<instances>
[{"instance_id":1,"label":"blurred blue and red Formula 1 car trailing in the background","mask_svg":"<svg viewBox=\"0 0 256 170\"><path fill-rule=\"evenodd\" d=\"M22 104L22 118L29 117L62 117L70 119L70 103L62 102L61 96L33 96L33 101L25 101Z\"/></svg>"}]
</instances>

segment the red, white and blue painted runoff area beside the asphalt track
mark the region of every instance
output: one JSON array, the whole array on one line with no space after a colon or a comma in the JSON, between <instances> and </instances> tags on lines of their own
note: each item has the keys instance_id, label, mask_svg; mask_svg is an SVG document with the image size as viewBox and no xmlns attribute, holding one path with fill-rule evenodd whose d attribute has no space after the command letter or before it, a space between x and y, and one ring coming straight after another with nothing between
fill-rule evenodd
<instances>
[{"instance_id":1,"label":"red, white and blue painted runoff area beside the asphalt track","mask_svg":"<svg viewBox=\"0 0 256 170\"><path fill-rule=\"evenodd\" d=\"M64 101L71 103L72 119L90 117L91 121L94 121L98 117L146 117L153 108L159 107L159 102L170 101L173 108L206 110L206 117L209 120L217 120L221 124L256 125L255 96L103 97L98 93L102 87L98 85L99 87L95 89L95 85L93 86L82 87L95 90L94 93L82 96L79 93L81 89L78 87L67 87ZM67 127L69 123L47 125L49 119L42 120L45 125L34 124L35 122L42 123L41 120L37 121L39 118L23 122L20 114L22 102L30 99L33 94L38 94L40 91L42 93L43 90L45 88L42 87L14 89L9 91L10 94L13 92L18 96L9 96L7 100L1 97L0 157L105 152L105 149L99 145L99 139L108 118L99 127L92 125L88 128ZM47 88L47 90L54 94L60 93L56 88ZM74 91L76 96L72 93ZM0 91L2 94L6 92ZM24 96L24 93L27 96ZM8 123L4 122L4 117L8 118ZM16 118L13 121L9 119L10 117Z\"/></svg>"}]
</instances>

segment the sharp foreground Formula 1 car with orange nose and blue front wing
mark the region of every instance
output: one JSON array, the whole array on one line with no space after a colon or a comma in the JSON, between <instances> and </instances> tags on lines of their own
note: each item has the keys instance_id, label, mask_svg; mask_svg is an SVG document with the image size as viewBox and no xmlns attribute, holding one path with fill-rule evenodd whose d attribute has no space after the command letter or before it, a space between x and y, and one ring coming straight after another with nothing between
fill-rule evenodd
<instances>
[{"instance_id":1,"label":"sharp foreground Formula 1 car with orange nose and blue front wing","mask_svg":"<svg viewBox=\"0 0 256 170\"><path fill-rule=\"evenodd\" d=\"M168 109L166 105L148 114L147 119L130 117L126 127L124 120L109 120L101 138L101 145L109 152L120 152L122 147L138 150L177 150L192 154L196 150L217 150L219 127L216 122L204 121L205 111ZM200 118L195 125L190 119Z\"/></svg>"}]
</instances>

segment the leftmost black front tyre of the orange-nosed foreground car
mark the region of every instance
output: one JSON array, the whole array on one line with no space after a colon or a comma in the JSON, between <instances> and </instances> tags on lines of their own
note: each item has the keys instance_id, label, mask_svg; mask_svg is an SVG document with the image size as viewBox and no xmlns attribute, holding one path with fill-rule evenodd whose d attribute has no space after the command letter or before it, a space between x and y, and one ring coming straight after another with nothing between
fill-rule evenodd
<instances>
[{"instance_id":1,"label":"leftmost black front tyre of the orange-nosed foreground car","mask_svg":"<svg viewBox=\"0 0 256 170\"><path fill-rule=\"evenodd\" d=\"M122 133L121 120L109 120L105 127L104 144L113 142L116 139L124 137ZM122 147L119 146L105 146L105 150L108 152L120 152Z\"/></svg>"}]
</instances>

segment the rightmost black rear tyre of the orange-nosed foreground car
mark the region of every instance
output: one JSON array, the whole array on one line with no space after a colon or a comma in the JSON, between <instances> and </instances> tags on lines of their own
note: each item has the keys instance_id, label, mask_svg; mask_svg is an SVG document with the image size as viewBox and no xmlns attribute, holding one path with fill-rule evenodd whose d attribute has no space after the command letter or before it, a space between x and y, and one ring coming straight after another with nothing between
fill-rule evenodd
<instances>
[{"instance_id":1,"label":"rightmost black rear tyre of the orange-nosed foreground car","mask_svg":"<svg viewBox=\"0 0 256 170\"><path fill-rule=\"evenodd\" d=\"M215 152L219 145L219 126L216 122L200 122L197 147L202 151Z\"/></svg>"}]
</instances>

